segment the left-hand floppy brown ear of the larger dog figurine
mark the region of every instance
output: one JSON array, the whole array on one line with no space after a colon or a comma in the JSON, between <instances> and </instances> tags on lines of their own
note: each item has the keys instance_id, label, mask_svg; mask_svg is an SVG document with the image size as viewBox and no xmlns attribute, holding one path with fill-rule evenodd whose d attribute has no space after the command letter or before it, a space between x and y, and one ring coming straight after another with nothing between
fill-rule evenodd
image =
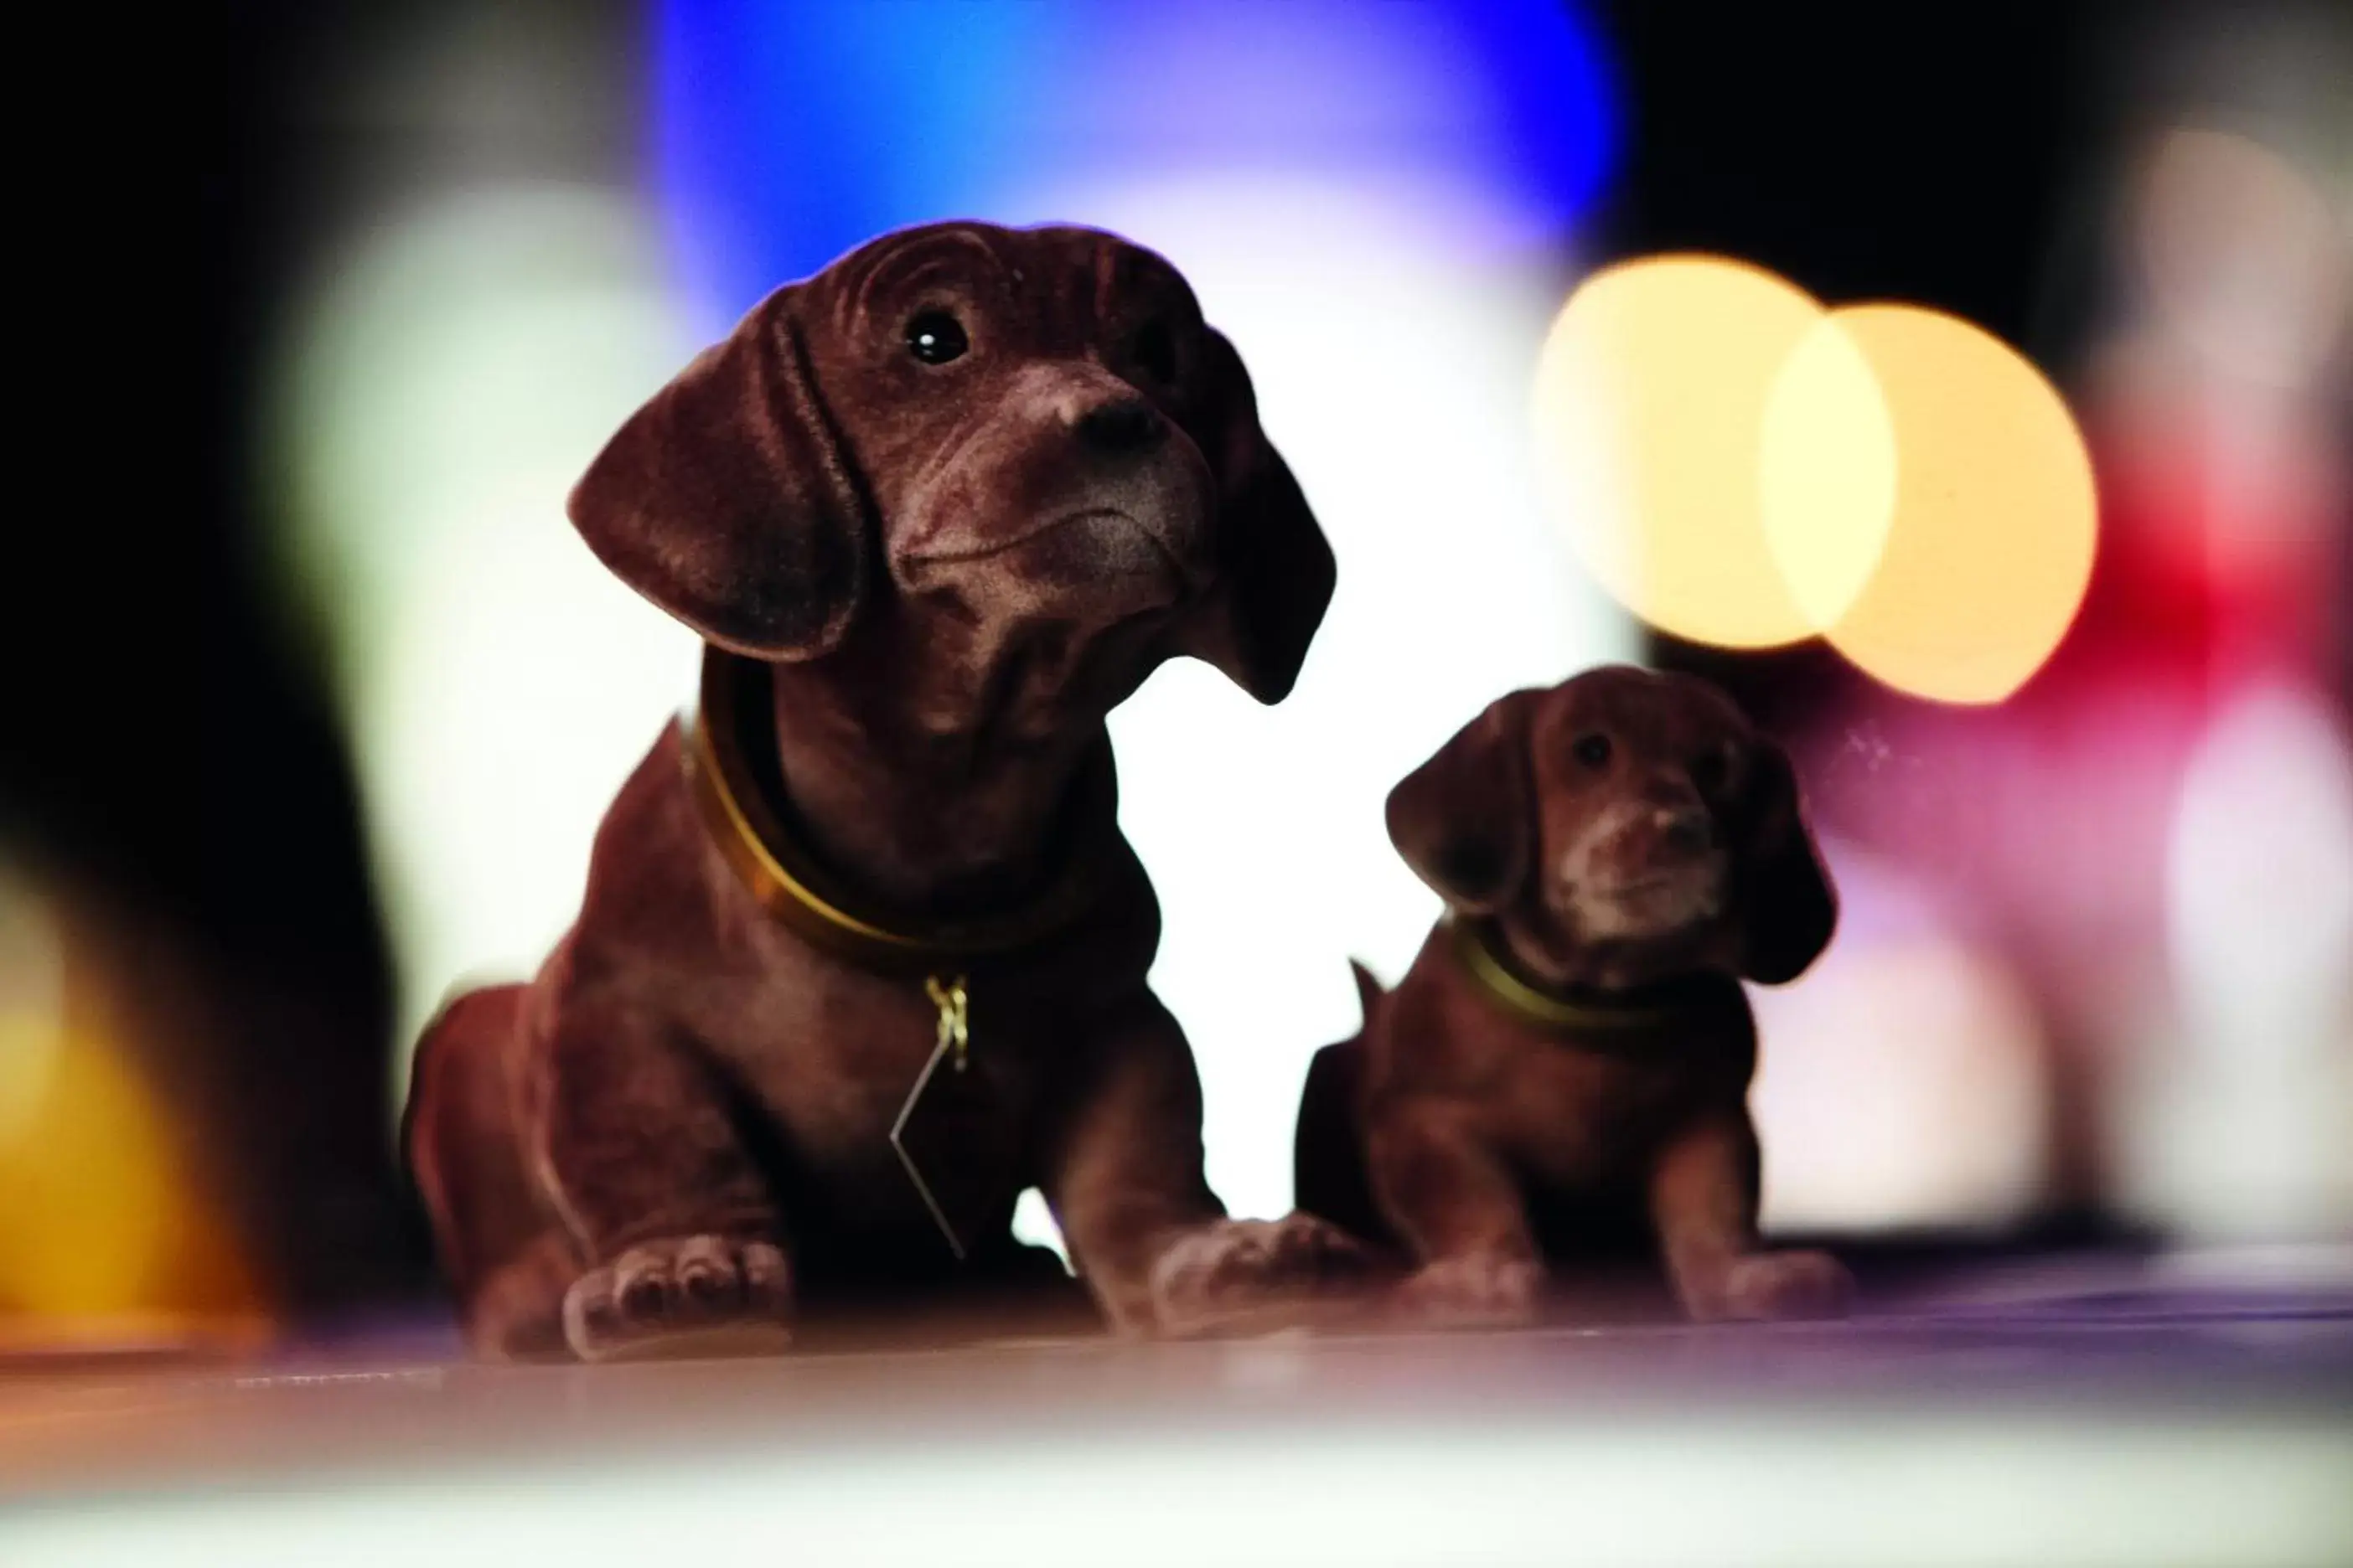
<instances>
[{"instance_id":1,"label":"left-hand floppy brown ear of the larger dog figurine","mask_svg":"<svg viewBox=\"0 0 2353 1568\"><path fill-rule=\"evenodd\" d=\"M866 595L866 522L776 289L631 414L572 489L614 576L708 642L816 658Z\"/></svg>"}]
</instances>

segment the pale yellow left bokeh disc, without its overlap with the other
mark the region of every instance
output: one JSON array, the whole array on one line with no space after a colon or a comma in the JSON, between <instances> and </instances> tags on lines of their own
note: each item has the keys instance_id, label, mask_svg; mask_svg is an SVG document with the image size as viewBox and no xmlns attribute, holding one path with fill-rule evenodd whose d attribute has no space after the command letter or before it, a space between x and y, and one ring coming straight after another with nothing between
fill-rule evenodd
<instances>
[{"instance_id":1,"label":"pale yellow left bokeh disc, without its overlap with the other","mask_svg":"<svg viewBox=\"0 0 2353 1568\"><path fill-rule=\"evenodd\" d=\"M1722 256L1607 268L1553 320L1534 393L1546 505L1649 625L1732 649L1819 630L1784 583L1758 484L1767 404L1819 320L1788 280Z\"/></svg>"}]
</instances>

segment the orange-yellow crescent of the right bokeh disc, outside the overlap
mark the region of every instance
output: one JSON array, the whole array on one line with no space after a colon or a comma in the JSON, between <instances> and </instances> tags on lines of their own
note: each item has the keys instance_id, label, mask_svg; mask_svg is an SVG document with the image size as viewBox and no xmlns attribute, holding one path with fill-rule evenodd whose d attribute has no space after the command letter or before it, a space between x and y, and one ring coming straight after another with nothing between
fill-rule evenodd
<instances>
[{"instance_id":1,"label":"orange-yellow crescent of the right bokeh disc, outside the overlap","mask_svg":"<svg viewBox=\"0 0 2353 1568\"><path fill-rule=\"evenodd\" d=\"M2033 364L1953 315L1849 306L1819 331L1871 364L1897 482L1878 564L1828 639L1899 691L1998 703L2059 646L2092 581L2082 435Z\"/></svg>"}]
</instances>

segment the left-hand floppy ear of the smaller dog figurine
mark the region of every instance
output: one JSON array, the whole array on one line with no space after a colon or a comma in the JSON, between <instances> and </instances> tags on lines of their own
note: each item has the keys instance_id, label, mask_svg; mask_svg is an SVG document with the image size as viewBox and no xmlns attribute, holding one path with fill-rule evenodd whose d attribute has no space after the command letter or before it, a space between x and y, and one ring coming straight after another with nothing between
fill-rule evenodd
<instances>
[{"instance_id":1,"label":"left-hand floppy ear of the smaller dog figurine","mask_svg":"<svg viewBox=\"0 0 2353 1568\"><path fill-rule=\"evenodd\" d=\"M1388 792L1388 842L1461 914L1494 914L1532 870L1527 698L1489 703Z\"/></svg>"}]
</instances>

